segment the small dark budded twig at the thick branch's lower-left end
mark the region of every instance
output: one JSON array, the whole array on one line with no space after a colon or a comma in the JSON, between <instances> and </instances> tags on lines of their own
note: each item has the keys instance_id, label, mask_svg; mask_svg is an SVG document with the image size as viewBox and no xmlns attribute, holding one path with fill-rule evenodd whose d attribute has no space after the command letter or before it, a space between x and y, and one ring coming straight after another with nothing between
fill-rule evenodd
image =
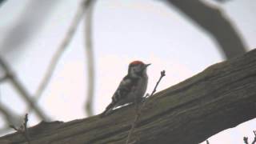
<instances>
[{"instance_id":1,"label":"small dark budded twig at the thick branch's lower-left end","mask_svg":"<svg viewBox=\"0 0 256 144\"><path fill-rule=\"evenodd\" d=\"M25 114L24 123L21 126L19 126L19 128L15 127L14 125L10 125L10 128L12 128L15 131L17 131L18 133L22 134L23 137L26 139L26 142L28 142L28 144L30 144L30 138L27 133L27 122L28 122L27 116L28 116L28 114Z\"/></svg>"}]
</instances>

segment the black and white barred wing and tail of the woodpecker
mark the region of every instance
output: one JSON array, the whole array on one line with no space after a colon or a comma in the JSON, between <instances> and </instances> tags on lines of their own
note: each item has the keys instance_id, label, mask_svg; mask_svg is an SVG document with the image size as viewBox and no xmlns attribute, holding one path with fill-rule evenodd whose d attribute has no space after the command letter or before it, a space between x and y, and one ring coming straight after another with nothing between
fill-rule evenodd
<instances>
[{"instance_id":1,"label":"black and white barred wing and tail of the woodpecker","mask_svg":"<svg viewBox=\"0 0 256 144\"><path fill-rule=\"evenodd\" d=\"M118 89L114 92L114 95L112 96L112 102L109 106L106 107L106 110L102 113L102 115L109 114L110 111L114 109L114 107L126 104L126 98L133 91L132 89L135 87L136 82L136 79L131 79L128 76L123 78L122 82L120 82L118 86Z\"/></svg>"}]
</instances>

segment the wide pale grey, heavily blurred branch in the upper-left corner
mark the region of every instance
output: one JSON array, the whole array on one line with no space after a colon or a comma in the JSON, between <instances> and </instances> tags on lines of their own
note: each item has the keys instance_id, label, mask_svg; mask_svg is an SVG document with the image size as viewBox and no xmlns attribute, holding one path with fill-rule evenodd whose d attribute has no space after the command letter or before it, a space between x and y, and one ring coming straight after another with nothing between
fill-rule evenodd
<instances>
[{"instance_id":1,"label":"wide pale grey, heavily blurred branch in the upper-left corner","mask_svg":"<svg viewBox=\"0 0 256 144\"><path fill-rule=\"evenodd\" d=\"M6 5L8 1L6 1ZM33 0L26 3L26 7L18 14L14 25L10 26L0 43L2 56L6 55L13 60L18 60L27 49L26 43L30 42L42 30L42 26L50 17L54 6L59 2ZM3 7L2 7L3 8Z\"/></svg>"}]
</instances>

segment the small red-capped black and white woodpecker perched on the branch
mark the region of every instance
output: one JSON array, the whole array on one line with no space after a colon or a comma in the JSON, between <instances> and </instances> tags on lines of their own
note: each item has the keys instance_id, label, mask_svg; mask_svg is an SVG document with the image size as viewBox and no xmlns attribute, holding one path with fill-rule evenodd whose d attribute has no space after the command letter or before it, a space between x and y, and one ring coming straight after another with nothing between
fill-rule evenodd
<instances>
[{"instance_id":1,"label":"small red-capped black and white woodpecker perched on the branch","mask_svg":"<svg viewBox=\"0 0 256 144\"><path fill-rule=\"evenodd\" d=\"M142 101L143 95L146 92L148 76L146 68L150 64L145 64L142 61L130 62L128 67L128 74L120 82L118 89L112 96L112 102L106 107L102 116L110 114L110 112L117 106L122 106L127 103Z\"/></svg>"}]
</instances>

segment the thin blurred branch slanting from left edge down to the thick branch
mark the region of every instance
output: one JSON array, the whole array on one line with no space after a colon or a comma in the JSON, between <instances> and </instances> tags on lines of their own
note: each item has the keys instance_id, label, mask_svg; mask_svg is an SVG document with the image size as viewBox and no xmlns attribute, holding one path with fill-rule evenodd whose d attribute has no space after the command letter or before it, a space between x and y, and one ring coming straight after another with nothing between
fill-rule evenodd
<instances>
[{"instance_id":1,"label":"thin blurred branch slanting from left edge down to the thick branch","mask_svg":"<svg viewBox=\"0 0 256 144\"><path fill-rule=\"evenodd\" d=\"M47 119L46 114L44 114L43 111L37 105L35 105L34 100L30 96L30 94L26 91L26 88L22 85L22 82L19 82L18 78L14 76L10 67L6 64L6 62L1 57L0 57L0 66L2 66L2 69L5 70L6 77L9 78L14 88L18 91L18 93L22 96L22 98L26 102L28 102L29 106L34 109L35 113L38 115L38 118Z\"/></svg>"}]
</instances>

